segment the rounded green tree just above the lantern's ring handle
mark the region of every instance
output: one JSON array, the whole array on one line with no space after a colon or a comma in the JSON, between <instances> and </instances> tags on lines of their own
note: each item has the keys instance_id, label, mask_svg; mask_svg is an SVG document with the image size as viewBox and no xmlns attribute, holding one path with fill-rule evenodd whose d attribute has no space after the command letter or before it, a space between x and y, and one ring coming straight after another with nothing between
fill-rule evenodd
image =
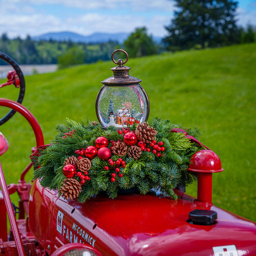
<instances>
[{"instance_id":1,"label":"rounded green tree just above the lantern's ring handle","mask_svg":"<svg viewBox=\"0 0 256 256\"><path fill-rule=\"evenodd\" d=\"M157 53L157 47L151 36L146 34L146 28L136 28L134 33L124 41L124 49L130 57L142 57Z\"/></svg>"}]
</instances>

